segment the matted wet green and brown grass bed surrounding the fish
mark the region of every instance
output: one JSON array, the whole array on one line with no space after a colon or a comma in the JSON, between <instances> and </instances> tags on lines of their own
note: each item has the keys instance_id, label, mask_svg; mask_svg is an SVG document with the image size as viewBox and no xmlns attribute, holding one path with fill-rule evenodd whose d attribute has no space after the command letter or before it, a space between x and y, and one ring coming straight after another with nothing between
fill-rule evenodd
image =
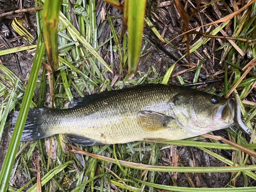
<instances>
[{"instance_id":1,"label":"matted wet green and brown grass bed surrounding the fish","mask_svg":"<svg viewBox=\"0 0 256 192\"><path fill-rule=\"evenodd\" d=\"M0 159L0 191L255 191L254 132L233 127L208 138L85 147L65 135L19 143L26 119L20 117L10 141L10 111L65 109L73 98L142 83L181 84L223 97L235 91L253 131L254 1L147 1L138 68L131 74L132 31L125 30L122 8L107 2L63 0L59 14L52 6L49 19L59 18L48 26L57 33L50 45L57 46L52 57L58 67L52 67L41 33L44 2L17 7L1 1L0 154L6 161ZM32 9L17 11L22 8Z\"/></svg>"}]
</instances>

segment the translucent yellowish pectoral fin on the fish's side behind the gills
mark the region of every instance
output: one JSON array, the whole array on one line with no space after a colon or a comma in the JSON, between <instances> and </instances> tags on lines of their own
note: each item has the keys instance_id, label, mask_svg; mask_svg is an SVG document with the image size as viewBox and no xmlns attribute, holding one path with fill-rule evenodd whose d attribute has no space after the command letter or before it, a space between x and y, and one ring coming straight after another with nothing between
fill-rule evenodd
<instances>
[{"instance_id":1,"label":"translucent yellowish pectoral fin on the fish's side behind the gills","mask_svg":"<svg viewBox=\"0 0 256 192\"><path fill-rule=\"evenodd\" d=\"M174 117L157 113L154 111L140 111L137 115L137 122L145 131L160 131L167 129L167 124Z\"/></svg>"}]
</instances>

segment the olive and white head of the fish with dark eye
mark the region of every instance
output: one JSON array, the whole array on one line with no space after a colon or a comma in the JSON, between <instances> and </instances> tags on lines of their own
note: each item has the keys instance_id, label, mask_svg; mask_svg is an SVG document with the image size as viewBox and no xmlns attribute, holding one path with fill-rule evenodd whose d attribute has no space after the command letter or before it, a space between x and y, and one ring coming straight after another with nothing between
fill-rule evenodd
<instances>
[{"instance_id":1,"label":"olive and white head of the fish with dark eye","mask_svg":"<svg viewBox=\"0 0 256 192\"><path fill-rule=\"evenodd\" d=\"M232 99L197 90L176 95L172 110L177 124L195 136L229 127L234 118Z\"/></svg>"}]
</instances>

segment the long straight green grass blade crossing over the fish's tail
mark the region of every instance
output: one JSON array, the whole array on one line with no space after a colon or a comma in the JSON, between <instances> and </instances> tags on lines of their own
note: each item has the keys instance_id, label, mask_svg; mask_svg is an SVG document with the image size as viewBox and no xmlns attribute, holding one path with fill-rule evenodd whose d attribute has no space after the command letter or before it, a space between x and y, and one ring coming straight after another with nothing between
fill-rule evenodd
<instances>
[{"instance_id":1,"label":"long straight green grass blade crossing over the fish's tail","mask_svg":"<svg viewBox=\"0 0 256 192\"><path fill-rule=\"evenodd\" d=\"M39 39L41 39L40 36L39 36ZM0 173L0 191L1 192L5 192L7 190L8 183L10 181L9 179L12 171L12 166L15 160L20 138L22 137L24 125L28 116L29 106L32 100L32 96L34 94L35 84L36 84L38 73L41 67L41 61L42 61L42 56L44 55L44 52L45 52L45 44L38 42L33 66L31 69L31 74L28 82L28 87L24 95L23 104L20 108L17 122L15 124L15 128L13 131L13 137L11 138L8 151L5 157L5 161L3 163L3 168Z\"/></svg>"}]
</instances>

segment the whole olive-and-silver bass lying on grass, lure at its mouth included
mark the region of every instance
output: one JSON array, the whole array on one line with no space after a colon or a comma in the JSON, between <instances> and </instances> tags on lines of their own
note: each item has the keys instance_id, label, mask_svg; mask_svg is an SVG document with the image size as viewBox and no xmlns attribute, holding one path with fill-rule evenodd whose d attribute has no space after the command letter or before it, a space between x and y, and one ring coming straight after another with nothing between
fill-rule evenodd
<instances>
[{"instance_id":1,"label":"whole olive-and-silver bass lying on grass, lure at its mouth included","mask_svg":"<svg viewBox=\"0 0 256 192\"><path fill-rule=\"evenodd\" d=\"M142 84L76 99L70 109L29 110L21 141L66 134L91 146L133 141L181 140L236 125L246 133L238 98L184 86ZM18 112L11 114L12 125Z\"/></svg>"}]
</instances>

